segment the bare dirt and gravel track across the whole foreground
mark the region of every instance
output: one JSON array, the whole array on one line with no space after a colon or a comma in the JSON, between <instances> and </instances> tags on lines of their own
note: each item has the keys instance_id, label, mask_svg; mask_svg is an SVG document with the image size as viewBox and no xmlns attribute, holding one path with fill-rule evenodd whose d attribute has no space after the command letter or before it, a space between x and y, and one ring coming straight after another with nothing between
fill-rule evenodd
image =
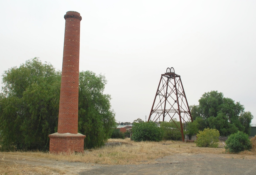
<instances>
[{"instance_id":1,"label":"bare dirt and gravel track across the whole foreground","mask_svg":"<svg viewBox=\"0 0 256 175\"><path fill-rule=\"evenodd\" d=\"M174 153L153 162L136 165L106 165L90 162L68 162L43 157L1 153L2 163L16 165L15 174L256 174L256 156L237 154ZM0 171L1 172L1 171ZM0 174L9 174L8 172Z\"/></svg>"}]
</instances>

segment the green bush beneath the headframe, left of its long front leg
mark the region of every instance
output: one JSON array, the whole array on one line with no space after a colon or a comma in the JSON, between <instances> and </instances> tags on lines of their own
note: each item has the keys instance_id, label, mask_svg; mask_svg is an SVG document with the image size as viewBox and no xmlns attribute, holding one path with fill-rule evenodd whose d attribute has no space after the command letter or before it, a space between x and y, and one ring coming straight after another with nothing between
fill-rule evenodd
<instances>
[{"instance_id":1,"label":"green bush beneath the headframe, left of its long front leg","mask_svg":"<svg viewBox=\"0 0 256 175\"><path fill-rule=\"evenodd\" d=\"M175 125L177 124L177 127ZM163 130L163 139L164 140L181 140L181 132L180 132L180 122L175 120L175 123L173 121L171 122L161 122L160 126Z\"/></svg>"}]
</instances>

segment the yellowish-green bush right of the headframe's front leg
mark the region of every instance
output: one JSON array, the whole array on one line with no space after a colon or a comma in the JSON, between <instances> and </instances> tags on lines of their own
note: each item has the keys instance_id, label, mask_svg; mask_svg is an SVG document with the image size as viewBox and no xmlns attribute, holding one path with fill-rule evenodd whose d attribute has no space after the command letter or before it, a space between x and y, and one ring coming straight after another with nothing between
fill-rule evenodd
<instances>
[{"instance_id":1,"label":"yellowish-green bush right of the headframe's front leg","mask_svg":"<svg viewBox=\"0 0 256 175\"><path fill-rule=\"evenodd\" d=\"M199 131L196 136L197 147L218 147L220 132L217 129L205 128L204 131Z\"/></svg>"}]
</instances>

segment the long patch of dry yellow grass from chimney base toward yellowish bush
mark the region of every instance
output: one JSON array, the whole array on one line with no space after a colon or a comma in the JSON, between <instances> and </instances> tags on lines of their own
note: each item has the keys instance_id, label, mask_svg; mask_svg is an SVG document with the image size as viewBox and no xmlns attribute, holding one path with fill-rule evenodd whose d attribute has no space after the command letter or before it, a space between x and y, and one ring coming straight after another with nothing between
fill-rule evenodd
<instances>
[{"instance_id":1,"label":"long patch of dry yellow grass from chimney base toward yellowish bush","mask_svg":"<svg viewBox=\"0 0 256 175\"><path fill-rule=\"evenodd\" d=\"M109 139L108 142L122 142L119 146L106 146L77 154L50 154L42 152L10 152L32 157L44 157L55 160L67 160L71 162L80 161L98 164L142 164L154 162L156 158L170 156L176 153L225 153L224 148L199 148L195 143L184 143L181 141L161 142L134 142L127 139ZM221 144L221 143L220 143Z\"/></svg>"}]
</instances>

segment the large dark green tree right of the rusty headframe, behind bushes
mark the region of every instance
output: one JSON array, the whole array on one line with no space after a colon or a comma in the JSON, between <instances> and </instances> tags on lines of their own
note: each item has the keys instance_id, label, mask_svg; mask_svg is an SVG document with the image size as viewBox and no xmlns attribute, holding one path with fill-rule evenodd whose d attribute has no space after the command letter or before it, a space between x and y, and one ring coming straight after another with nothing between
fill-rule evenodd
<instances>
[{"instance_id":1,"label":"large dark green tree right of the rusty headframe, behind bushes","mask_svg":"<svg viewBox=\"0 0 256 175\"><path fill-rule=\"evenodd\" d=\"M250 134L251 112L245 112L244 106L230 98L223 97L218 91L204 93L199 105L190 106L193 120L198 129L212 128L220 131L220 135L228 136L237 131Z\"/></svg>"}]
</instances>

